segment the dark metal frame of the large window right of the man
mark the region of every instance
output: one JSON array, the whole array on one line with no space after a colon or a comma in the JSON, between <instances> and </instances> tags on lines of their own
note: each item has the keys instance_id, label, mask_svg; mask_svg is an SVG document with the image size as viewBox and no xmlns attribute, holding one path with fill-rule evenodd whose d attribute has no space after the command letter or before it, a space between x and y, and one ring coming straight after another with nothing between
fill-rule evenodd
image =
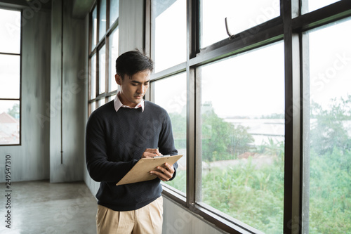
<instances>
[{"instance_id":1,"label":"dark metal frame of the large window right of the man","mask_svg":"<svg viewBox=\"0 0 351 234\"><path fill-rule=\"evenodd\" d=\"M146 1L145 49L153 56L154 25L152 24L152 0ZM164 185L163 194L174 200L189 212L202 216L228 233L256 233L257 230L241 221L217 212L206 204L197 202L201 188L201 150L199 138L201 129L196 116L200 113L199 92L201 88L197 67L238 53L251 51L276 41L284 43L285 68L285 148L284 148L284 233L303 233L305 219L308 220L305 204L309 198L303 190L304 168L303 139L303 32L351 16L351 2L340 0L329 6L302 14L301 1L280 0L279 17L263 22L240 32L232 39L223 39L205 48L199 46L199 2L187 0L187 60L185 63L168 67L152 74L148 99L153 101L152 83L180 72L187 73L187 193L186 197L170 186ZM308 203L307 203L308 204ZM308 211L308 210L307 210Z\"/></svg>"}]
</instances>

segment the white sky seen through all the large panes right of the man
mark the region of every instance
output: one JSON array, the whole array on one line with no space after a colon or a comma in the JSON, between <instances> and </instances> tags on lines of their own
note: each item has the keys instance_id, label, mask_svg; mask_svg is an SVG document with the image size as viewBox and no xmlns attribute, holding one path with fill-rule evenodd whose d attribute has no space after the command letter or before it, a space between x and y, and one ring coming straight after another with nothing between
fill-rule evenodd
<instances>
[{"instance_id":1,"label":"white sky seen through all the large panes right of the man","mask_svg":"<svg viewBox=\"0 0 351 234\"><path fill-rule=\"evenodd\" d=\"M279 15L279 1L277 0L204 0L202 2L204 16L201 22L206 27L201 27L203 38L201 46L207 46L228 37L225 30L225 17L230 19L228 20L230 32L236 33ZM336 1L310 0L308 4L310 11L313 11L333 2ZM186 22L180 21L178 25L169 25L168 22L170 19L185 18L184 4L184 0L176 1L156 20L158 29L155 45L157 50L155 63L158 67L156 72L185 61L186 41L183 39L186 38ZM253 11L243 10L252 9L252 6L257 7ZM216 11L213 11L214 9ZM350 28L350 22L348 22L322 30L314 30L309 34L310 92L313 101L320 103L324 108L328 107L331 98L346 96L351 86L351 62L349 61L351 51L347 42L351 41ZM169 37L170 34L176 37ZM338 41L333 43L335 39ZM167 44L162 44L162 41L167 41ZM169 44L172 45L172 48L169 48ZM305 64L308 65L307 62ZM337 69L334 69L334 65ZM320 73L325 74L326 78L320 78ZM283 43L206 65L201 68L201 75L201 103L211 102L220 117L258 117L284 113ZM157 92L159 92L157 102L173 106L176 112L179 112L182 108L177 105L179 106L180 103L185 105L183 100L186 98L183 97L186 97L186 93L182 94L185 82L185 78L176 81L176 77L168 79L167 82L156 82ZM171 100L166 97L170 97ZM170 102L174 103L178 97L182 102L170 105Z\"/></svg>"}]
</instances>

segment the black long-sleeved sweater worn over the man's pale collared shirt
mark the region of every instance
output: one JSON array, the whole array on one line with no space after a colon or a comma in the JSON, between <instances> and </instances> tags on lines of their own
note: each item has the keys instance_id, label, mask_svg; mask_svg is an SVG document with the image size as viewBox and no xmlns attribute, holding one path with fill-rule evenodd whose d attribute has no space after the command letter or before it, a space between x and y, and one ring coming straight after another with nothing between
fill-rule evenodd
<instances>
[{"instance_id":1,"label":"black long-sleeved sweater worn over the man's pale collared shirt","mask_svg":"<svg viewBox=\"0 0 351 234\"><path fill-rule=\"evenodd\" d=\"M163 155L178 153L171 120L159 105L145 100L144 112L142 108L119 108L116 112L112 100L91 114L86 125L86 165L91 178L101 182L96 194L98 204L128 211L161 196L159 178L116 186L147 148L159 148ZM176 170L178 164L173 167Z\"/></svg>"}]
</instances>

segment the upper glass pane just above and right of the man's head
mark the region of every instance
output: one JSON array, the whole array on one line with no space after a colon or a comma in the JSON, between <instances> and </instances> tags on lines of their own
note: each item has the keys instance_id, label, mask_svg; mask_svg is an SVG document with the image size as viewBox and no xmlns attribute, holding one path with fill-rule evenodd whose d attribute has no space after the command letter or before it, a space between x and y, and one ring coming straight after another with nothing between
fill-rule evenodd
<instances>
[{"instance_id":1,"label":"upper glass pane just above and right of the man's head","mask_svg":"<svg viewBox=\"0 0 351 234\"><path fill-rule=\"evenodd\" d=\"M152 1L155 72L185 62L187 48L186 0Z\"/></svg>"}]
</instances>

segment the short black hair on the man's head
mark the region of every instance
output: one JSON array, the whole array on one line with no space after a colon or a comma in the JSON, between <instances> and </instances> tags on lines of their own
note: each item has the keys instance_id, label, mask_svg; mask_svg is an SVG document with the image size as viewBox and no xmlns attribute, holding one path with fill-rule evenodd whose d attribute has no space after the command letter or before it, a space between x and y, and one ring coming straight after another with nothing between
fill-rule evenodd
<instances>
[{"instance_id":1,"label":"short black hair on the man's head","mask_svg":"<svg viewBox=\"0 0 351 234\"><path fill-rule=\"evenodd\" d=\"M126 74L128 77L138 72L154 69L154 62L147 57L145 53L140 51L128 51L122 53L116 60L116 73L124 79Z\"/></svg>"}]
</instances>

